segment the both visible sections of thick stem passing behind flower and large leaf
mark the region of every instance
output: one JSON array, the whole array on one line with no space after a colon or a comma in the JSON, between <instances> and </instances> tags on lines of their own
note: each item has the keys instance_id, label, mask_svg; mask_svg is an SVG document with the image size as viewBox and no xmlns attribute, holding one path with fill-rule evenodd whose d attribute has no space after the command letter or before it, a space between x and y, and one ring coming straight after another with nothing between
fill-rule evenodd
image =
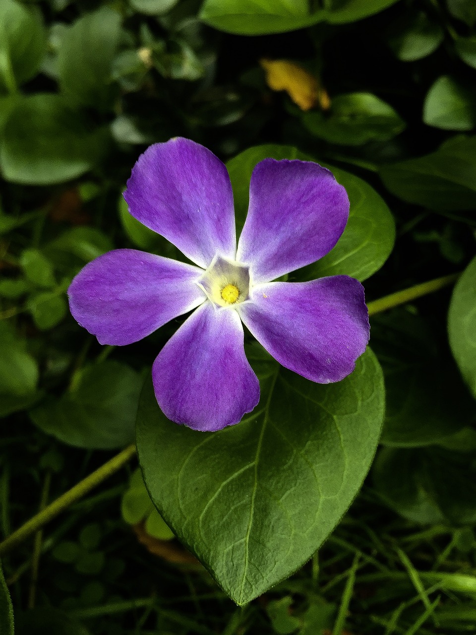
<instances>
[{"instance_id":1,"label":"both visible sections of thick stem passing behind flower and large leaf","mask_svg":"<svg viewBox=\"0 0 476 635\"><path fill-rule=\"evenodd\" d=\"M379 300L373 300L369 302L369 316L373 316L381 311L387 311L393 309L400 304L411 302L417 298L421 298L423 295L438 291L449 284L456 282L460 274L451 274L451 276L443 276L430 280L422 284L416 284L403 291L397 291L397 293L391 293ZM112 349L108 349L112 350ZM8 538L0 542L0 554L4 554L13 547L16 547L20 542L23 542L26 538L36 533L41 527L46 525L48 521L55 518L60 512L67 509L70 505L82 498L96 485L99 485L108 476L117 472L123 465L135 455L136 448L134 445L129 445L125 450L119 452L115 457L111 458L107 463L99 467L95 472L86 476L83 481L75 485L73 488L65 492L59 498L56 498L48 507L45 507L41 512L30 518L24 525L22 525L17 531L13 531Z\"/></svg>"}]
</instances>

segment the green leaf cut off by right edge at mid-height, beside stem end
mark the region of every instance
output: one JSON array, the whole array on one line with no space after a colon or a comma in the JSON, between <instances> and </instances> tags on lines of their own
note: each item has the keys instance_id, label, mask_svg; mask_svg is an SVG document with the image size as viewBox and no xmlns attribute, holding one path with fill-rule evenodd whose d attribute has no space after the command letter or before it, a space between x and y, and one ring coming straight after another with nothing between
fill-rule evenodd
<instances>
[{"instance_id":1,"label":"green leaf cut off by right edge at mid-height, beside stem end","mask_svg":"<svg viewBox=\"0 0 476 635\"><path fill-rule=\"evenodd\" d=\"M461 375L476 398L476 258L454 287L448 312L448 336Z\"/></svg>"}]
</instances>

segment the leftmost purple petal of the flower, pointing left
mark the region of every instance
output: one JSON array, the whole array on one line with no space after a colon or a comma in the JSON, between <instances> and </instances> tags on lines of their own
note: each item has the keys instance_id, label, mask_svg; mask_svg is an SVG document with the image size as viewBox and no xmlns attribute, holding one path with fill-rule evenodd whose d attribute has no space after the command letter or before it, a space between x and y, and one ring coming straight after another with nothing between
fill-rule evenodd
<instances>
[{"instance_id":1,"label":"leftmost purple petal of the flower, pointing left","mask_svg":"<svg viewBox=\"0 0 476 635\"><path fill-rule=\"evenodd\" d=\"M70 311L100 344L131 344L202 304L206 295L195 283L202 274L144 251L109 251L73 279Z\"/></svg>"}]
</instances>

